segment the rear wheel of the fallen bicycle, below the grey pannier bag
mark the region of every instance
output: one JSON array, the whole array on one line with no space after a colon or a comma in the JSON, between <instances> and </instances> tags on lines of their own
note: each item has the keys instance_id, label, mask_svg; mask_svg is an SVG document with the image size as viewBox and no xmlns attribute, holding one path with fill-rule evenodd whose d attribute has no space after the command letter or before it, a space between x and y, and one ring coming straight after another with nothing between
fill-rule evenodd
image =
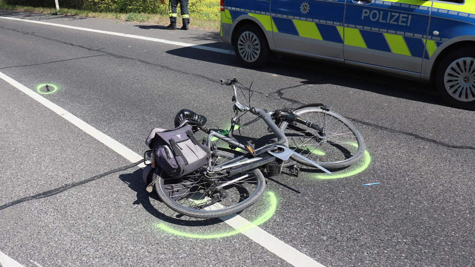
<instances>
[{"instance_id":1,"label":"rear wheel of the fallen bicycle, below the grey pannier bag","mask_svg":"<svg viewBox=\"0 0 475 267\"><path fill-rule=\"evenodd\" d=\"M218 158L215 160L215 165L234 159L241 154L238 151L223 151L218 148ZM216 176L225 174L226 171L222 171L218 172ZM225 183L242 176L242 174L244 173L232 177L224 176L217 178L216 183ZM247 171L245 175L249 175L249 177L224 186L223 190L226 197L222 198L220 196L219 201L212 205L205 204L205 202L212 202L212 198L217 197L216 194L219 194L219 192L211 189L209 179L208 181L205 180L204 176L199 172L185 177L171 178L164 171L160 170L157 173L158 180L155 185L155 191L165 205L182 215L201 219L219 218L246 209L254 204L264 193L266 181L259 169ZM173 199L168 193L170 185L173 186L173 183L177 180L193 181L189 186L190 192L187 192L187 196L181 199Z\"/></svg>"}]
</instances>

